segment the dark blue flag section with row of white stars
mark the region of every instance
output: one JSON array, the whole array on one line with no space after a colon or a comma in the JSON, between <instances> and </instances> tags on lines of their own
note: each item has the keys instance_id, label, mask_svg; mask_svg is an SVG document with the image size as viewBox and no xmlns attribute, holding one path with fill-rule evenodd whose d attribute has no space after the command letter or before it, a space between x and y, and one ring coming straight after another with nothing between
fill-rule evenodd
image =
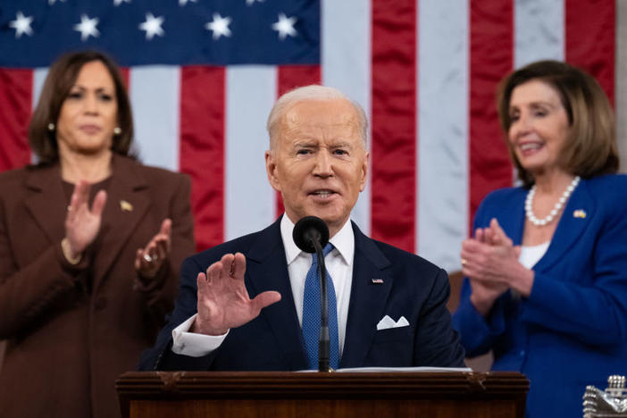
<instances>
[{"instance_id":1,"label":"dark blue flag section with row of white stars","mask_svg":"<svg viewBox=\"0 0 627 418\"><path fill-rule=\"evenodd\" d=\"M26 0L0 5L0 67L95 48L124 66L320 63L319 0Z\"/></svg>"}]
</instances>

